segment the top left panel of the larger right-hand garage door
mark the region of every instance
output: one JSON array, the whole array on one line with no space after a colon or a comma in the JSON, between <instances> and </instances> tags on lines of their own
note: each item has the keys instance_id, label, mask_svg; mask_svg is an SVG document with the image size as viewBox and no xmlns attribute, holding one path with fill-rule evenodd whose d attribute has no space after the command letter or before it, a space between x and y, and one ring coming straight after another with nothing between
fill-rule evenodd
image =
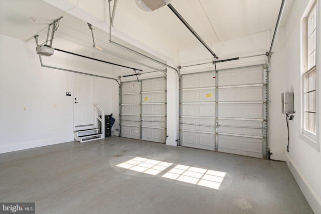
<instances>
[{"instance_id":1,"label":"top left panel of the larger right-hand garage door","mask_svg":"<svg viewBox=\"0 0 321 214\"><path fill-rule=\"evenodd\" d=\"M203 74L191 74L182 77L182 88L205 88L215 86L215 72Z\"/></svg>"}]
</instances>

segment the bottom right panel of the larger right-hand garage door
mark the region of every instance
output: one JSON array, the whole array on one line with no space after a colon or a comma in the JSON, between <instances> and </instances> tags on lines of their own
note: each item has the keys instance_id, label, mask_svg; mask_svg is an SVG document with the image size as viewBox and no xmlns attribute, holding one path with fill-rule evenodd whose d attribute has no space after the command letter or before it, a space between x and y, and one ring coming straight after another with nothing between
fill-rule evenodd
<instances>
[{"instance_id":1,"label":"bottom right panel of the larger right-hand garage door","mask_svg":"<svg viewBox=\"0 0 321 214\"><path fill-rule=\"evenodd\" d=\"M218 151L262 158L262 148L263 139L260 138L218 136Z\"/></svg>"}]
</instances>

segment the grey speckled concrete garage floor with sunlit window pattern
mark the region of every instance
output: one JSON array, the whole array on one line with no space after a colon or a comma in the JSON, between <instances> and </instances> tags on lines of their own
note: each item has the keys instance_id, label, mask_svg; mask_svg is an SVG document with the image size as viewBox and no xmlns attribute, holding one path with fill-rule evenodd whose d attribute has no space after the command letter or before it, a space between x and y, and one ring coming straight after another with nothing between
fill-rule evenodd
<instances>
[{"instance_id":1,"label":"grey speckled concrete garage floor with sunlit window pattern","mask_svg":"<svg viewBox=\"0 0 321 214\"><path fill-rule=\"evenodd\" d=\"M0 201L36 213L313 213L284 162L126 138L0 154L0 170Z\"/></svg>"}]
</instances>

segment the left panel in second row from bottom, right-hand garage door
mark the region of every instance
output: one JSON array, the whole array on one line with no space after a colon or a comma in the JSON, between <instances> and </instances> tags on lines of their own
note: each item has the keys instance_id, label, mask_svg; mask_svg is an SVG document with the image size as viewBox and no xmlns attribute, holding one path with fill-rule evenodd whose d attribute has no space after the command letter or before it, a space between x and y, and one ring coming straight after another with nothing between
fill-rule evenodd
<instances>
[{"instance_id":1,"label":"left panel in second row from bottom, right-hand garage door","mask_svg":"<svg viewBox=\"0 0 321 214\"><path fill-rule=\"evenodd\" d=\"M182 129L215 132L215 120L208 118L182 118Z\"/></svg>"}]
</instances>

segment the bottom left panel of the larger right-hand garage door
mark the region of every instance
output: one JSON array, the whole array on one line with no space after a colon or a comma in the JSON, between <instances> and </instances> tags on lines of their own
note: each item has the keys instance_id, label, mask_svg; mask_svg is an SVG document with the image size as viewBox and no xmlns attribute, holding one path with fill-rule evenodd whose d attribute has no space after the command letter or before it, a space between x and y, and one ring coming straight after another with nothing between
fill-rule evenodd
<instances>
[{"instance_id":1,"label":"bottom left panel of the larger right-hand garage door","mask_svg":"<svg viewBox=\"0 0 321 214\"><path fill-rule=\"evenodd\" d=\"M215 148L215 135L182 131L182 146L196 147L208 150Z\"/></svg>"}]
</instances>

